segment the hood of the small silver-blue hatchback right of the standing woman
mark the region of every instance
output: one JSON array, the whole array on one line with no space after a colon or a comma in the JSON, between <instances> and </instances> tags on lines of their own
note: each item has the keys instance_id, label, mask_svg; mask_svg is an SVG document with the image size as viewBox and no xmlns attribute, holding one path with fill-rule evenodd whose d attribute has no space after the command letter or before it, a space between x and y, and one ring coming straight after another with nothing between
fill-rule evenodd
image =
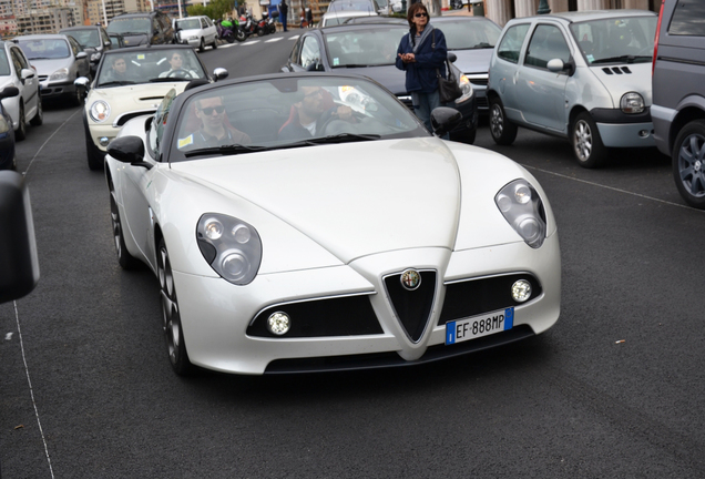
<instances>
[{"instance_id":1,"label":"hood of the small silver-blue hatchback right of the standing woman","mask_svg":"<svg viewBox=\"0 0 705 479\"><path fill-rule=\"evenodd\" d=\"M640 93L646 106L651 106L651 62L595 65L590 71L607 89L614 108L620 108L620 100L627 92Z\"/></svg>"}]
</instances>

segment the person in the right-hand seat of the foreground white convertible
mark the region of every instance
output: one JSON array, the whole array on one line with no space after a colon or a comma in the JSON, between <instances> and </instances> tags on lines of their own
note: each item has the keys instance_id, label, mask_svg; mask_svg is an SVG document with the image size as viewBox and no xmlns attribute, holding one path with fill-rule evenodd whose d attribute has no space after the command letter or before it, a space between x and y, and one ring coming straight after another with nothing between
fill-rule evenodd
<instances>
[{"instance_id":1,"label":"person in the right-hand seat of the foreground white convertible","mask_svg":"<svg viewBox=\"0 0 705 479\"><path fill-rule=\"evenodd\" d=\"M279 140L302 140L323 134L329 120L344 120L356 123L352 109L346 105L334 105L326 110L324 98L329 95L320 86L302 86L304 98L294 103L289 120L279 130Z\"/></svg>"}]
</instances>

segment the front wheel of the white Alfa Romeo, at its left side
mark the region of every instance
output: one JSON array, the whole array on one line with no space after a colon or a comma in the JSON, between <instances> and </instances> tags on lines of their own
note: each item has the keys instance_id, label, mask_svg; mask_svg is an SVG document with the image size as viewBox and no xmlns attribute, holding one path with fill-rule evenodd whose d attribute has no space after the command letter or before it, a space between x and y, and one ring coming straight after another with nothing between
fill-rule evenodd
<instances>
[{"instance_id":1,"label":"front wheel of the white Alfa Romeo, at its left side","mask_svg":"<svg viewBox=\"0 0 705 479\"><path fill-rule=\"evenodd\" d=\"M184 332L181 326L181 314L174 285L174 275L172 274L172 264L164 240L160 241L156 254L156 269L160 279L162 328L164 329L168 360L174 373L180 376L187 376L194 371L194 367L188 360Z\"/></svg>"}]
</instances>

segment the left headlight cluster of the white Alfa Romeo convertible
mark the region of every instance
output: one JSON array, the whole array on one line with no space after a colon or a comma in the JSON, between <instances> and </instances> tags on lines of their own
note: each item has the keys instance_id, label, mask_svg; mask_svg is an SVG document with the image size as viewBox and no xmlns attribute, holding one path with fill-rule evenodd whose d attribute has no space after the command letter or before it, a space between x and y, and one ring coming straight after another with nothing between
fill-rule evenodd
<instances>
[{"instance_id":1,"label":"left headlight cluster of the white Alfa Romeo convertible","mask_svg":"<svg viewBox=\"0 0 705 479\"><path fill-rule=\"evenodd\" d=\"M257 275L262 241L252 225L232 216L206 213L198 220L196 240L205 261L224 279L246 285Z\"/></svg>"}]
</instances>

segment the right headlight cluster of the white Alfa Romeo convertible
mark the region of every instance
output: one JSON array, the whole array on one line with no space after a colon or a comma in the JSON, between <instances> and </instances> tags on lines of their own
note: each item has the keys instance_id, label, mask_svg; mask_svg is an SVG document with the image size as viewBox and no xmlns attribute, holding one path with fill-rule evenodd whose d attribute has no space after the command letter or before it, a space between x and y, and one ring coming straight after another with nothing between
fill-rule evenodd
<instances>
[{"instance_id":1,"label":"right headlight cluster of the white Alfa Romeo convertible","mask_svg":"<svg viewBox=\"0 0 705 479\"><path fill-rule=\"evenodd\" d=\"M545 240L545 211L539 193L525 180L514 180L494 196L504 220L532 248Z\"/></svg>"}]
</instances>

